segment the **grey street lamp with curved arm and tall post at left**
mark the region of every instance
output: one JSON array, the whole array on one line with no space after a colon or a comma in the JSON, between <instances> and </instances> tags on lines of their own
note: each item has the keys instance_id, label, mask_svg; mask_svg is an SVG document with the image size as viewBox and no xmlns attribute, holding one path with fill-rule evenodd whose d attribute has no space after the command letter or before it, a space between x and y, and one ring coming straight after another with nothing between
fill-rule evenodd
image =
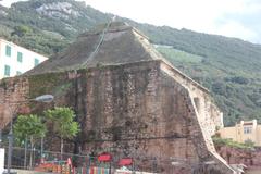
<instances>
[{"instance_id":1,"label":"grey street lamp with curved arm and tall post at left","mask_svg":"<svg viewBox=\"0 0 261 174\"><path fill-rule=\"evenodd\" d=\"M21 103L21 102L27 102L27 101L36 101L36 102L51 102L53 100L53 96L52 95L42 95L39 97L36 97L35 99L27 99L25 101L16 101L14 103ZM13 113L12 117L11 117L11 127L10 127L10 132L9 132L9 150L8 150L8 174L11 174L11 165L12 165L12 152L13 152Z\"/></svg>"}]
</instances>

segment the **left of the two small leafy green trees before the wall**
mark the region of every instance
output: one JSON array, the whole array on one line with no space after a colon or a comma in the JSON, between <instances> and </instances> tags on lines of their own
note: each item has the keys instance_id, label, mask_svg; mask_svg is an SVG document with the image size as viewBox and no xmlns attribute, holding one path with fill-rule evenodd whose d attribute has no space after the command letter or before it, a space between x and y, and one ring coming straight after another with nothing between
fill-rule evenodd
<instances>
[{"instance_id":1,"label":"left of the two small leafy green trees before the wall","mask_svg":"<svg viewBox=\"0 0 261 174\"><path fill-rule=\"evenodd\" d=\"M18 115L17 121L14 124L14 135L15 138L22 142L25 142L29 139L30 142L30 160L29 167L32 169L33 164L33 149L35 142L38 138L46 136L46 125L42 123L41 119L37 115ZM26 149L26 147L25 147ZM26 150L25 150L25 161L26 161Z\"/></svg>"}]
</instances>

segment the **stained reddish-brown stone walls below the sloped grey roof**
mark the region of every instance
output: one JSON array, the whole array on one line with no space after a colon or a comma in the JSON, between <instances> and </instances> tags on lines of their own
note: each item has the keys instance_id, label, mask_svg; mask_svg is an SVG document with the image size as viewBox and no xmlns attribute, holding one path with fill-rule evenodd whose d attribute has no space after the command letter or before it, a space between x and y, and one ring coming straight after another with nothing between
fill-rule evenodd
<instances>
[{"instance_id":1,"label":"stained reddish-brown stone walls below the sloped grey roof","mask_svg":"<svg viewBox=\"0 0 261 174\"><path fill-rule=\"evenodd\" d=\"M149 171L157 163L161 173L232 173L210 137L213 114L208 94L162 61L35 75L23 80L26 83L13 80L18 94L29 98L52 94L54 105L75 109L82 133L75 139L74 152L108 151L115 161L132 157L139 170ZM9 85L0 88L3 98L17 95ZM33 112L39 112L53 104L32 107ZM173 161L181 165L172 166ZM206 161L214 161L214 165L206 165Z\"/></svg>"}]
</instances>

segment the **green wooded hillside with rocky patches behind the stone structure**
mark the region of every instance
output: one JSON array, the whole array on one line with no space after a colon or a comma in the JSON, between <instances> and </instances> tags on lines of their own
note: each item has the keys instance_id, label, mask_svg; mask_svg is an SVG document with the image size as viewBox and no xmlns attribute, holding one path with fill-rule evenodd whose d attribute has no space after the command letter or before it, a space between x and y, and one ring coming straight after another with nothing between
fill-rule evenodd
<instances>
[{"instance_id":1,"label":"green wooded hillside with rocky patches behind the stone structure","mask_svg":"<svg viewBox=\"0 0 261 174\"><path fill-rule=\"evenodd\" d=\"M78 34L110 21L73 0L30 0L0 7L0 37L51 55ZM208 87L224 112L225 124L261 121L261 46L216 35L126 21L145 33L176 67Z\"/></svg>"}]
</instances>

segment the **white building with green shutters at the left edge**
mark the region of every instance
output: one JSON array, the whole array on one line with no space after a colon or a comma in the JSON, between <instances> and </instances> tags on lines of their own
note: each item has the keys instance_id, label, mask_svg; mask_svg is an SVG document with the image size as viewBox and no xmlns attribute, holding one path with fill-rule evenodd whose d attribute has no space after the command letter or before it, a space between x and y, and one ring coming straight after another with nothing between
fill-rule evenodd
<instances>
[{"instance_id":1,"label":"white building with green shutters at the left edge","mask_svg":"<svg viewBox=\"0 0 261 174\"><path fill-rule=\"evenodd\" d=\"M0 38L0 79L21 75L47 59Z\"/></svg>"}]
</instances>

